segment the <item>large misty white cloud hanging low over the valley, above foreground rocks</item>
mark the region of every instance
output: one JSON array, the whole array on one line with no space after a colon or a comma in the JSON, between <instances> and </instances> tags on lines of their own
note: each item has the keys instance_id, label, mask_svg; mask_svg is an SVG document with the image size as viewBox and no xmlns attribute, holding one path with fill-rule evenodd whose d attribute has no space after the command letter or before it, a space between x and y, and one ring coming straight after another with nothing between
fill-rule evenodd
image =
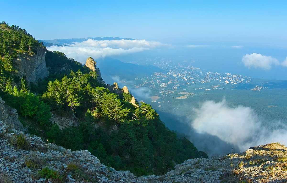
<instances>
[{"instance_id":1,"label":"large misty white cloud hanging low over the valley, above foreground rocks","mask_svg":"<svg viewBox=\"0 0 287 183\"><path fill-rule=\"evenodd\" d=\"M227 144L237 146L241 152L250 147L271 142L286 142L286 125L277 122L280 128L268 129L262 125L255 112L244 106L231 108L226 101L206 101L195 111L195 119L190 125L199 134L218 137ZM218 148L217 144L214 147Z\"/></svg>"}]
</instances>

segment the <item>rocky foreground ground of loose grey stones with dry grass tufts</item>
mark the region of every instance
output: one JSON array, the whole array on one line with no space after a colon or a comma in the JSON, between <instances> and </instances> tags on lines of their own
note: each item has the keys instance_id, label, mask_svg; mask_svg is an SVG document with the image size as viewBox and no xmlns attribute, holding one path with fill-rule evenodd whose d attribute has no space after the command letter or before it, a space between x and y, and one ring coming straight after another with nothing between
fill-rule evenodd
<instances>
[{"instance_id":1,"label":"rocky foreground ground of loose grey stones with dry grass tufts","mask_svg":"<svg viewBox=\"0 0 287 183\"><path fill-rule=\"evenodd\" d=\"M287 182L287 148L279 143L241 154L187 160L162 176L134 176L0 121L0 183L12 182Z\"/></svg>"}]
</instances>

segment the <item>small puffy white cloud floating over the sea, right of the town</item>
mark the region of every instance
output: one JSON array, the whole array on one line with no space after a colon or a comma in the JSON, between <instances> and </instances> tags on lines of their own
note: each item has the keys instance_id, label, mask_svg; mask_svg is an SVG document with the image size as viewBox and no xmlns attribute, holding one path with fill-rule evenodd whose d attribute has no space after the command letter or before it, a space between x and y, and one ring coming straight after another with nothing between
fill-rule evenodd
<instances>
[{"instance_id":1,"label":"small puffy white cloud floating over the sea, right of the town","mask_svg":"<svg viewBox=\"0 0 287 183\"><path fill-rule=\"evenodd\" d=\"M270 56L265 56L257 53L252 53L251 55L244 55L242 58L243 64L248 67L262 68L262 69L270 69L271 65L279 65L279 61Z\"/></svg>"}]
</instances>

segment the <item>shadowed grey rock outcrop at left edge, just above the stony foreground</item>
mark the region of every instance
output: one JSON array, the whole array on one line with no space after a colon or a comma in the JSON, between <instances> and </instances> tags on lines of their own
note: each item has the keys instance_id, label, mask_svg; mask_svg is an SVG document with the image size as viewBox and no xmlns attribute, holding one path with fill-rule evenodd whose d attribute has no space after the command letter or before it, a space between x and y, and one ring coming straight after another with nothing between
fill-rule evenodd
<instances>
[{"instance_id":1,"label":"shadowed grey rock outcrop at left edge, just above the stony foreground","mask_svg":"<svg viewBox=\"0 0 287 183\"><path fill-rule=\"evenodd\" d=\"M12 126L17 130L23 130L24 127L22 123L18 120L17 110L14 108L10 108L5 101L0 97L0 120L5 124Z\"/></svg>"}]
</instances>

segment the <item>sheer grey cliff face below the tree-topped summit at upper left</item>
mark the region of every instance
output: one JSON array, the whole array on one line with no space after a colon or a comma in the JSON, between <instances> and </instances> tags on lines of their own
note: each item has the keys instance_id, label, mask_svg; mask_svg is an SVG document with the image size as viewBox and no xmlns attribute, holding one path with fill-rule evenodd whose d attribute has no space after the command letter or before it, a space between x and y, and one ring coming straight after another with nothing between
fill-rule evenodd
<instances>
[{"instance_id":1,"label":"sheer grey cliff face below the tree-topped summit at upper left","mask_svg":"<svg viewBox=\"0 0 287 183\"><path fill-rule=\"evenodd\" d=\"M28 82L36 82L38 79L44 79L49 75L45 61L46 49L38 46L36 53L18 54L14 60L13 66L17 69L17 75L26 77Z\"/></svg>"}]
</instances>

